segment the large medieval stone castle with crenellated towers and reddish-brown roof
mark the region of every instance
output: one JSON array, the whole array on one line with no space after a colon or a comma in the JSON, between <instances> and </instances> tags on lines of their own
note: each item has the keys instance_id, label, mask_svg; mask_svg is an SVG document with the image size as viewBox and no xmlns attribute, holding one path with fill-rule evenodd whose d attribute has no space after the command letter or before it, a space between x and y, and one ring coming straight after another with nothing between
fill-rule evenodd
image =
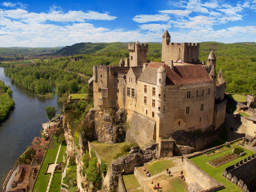
<instances>
[{"instance_id":1,"label":"large medieval stone castle with crenellated towers and reddish-brown roof","mask_svg":"<svg viewBox=\"0 0 256 192\"><path fill-rule=\"evenodd\" d=\"M221 69L216 74L213 50L205 64L198 43L170 40L166 30L161 63L147 63L148 44L137 41L119 66L93 66L94 108L127 109L126 140L141 146L176 131L217 129L225 121L226 82Z\"/></svg>"}]
</instances>

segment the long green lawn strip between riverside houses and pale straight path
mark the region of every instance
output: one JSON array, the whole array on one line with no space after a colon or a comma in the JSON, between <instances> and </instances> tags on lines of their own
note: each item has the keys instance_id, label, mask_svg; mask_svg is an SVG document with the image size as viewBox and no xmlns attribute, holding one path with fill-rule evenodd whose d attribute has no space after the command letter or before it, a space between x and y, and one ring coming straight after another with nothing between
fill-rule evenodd
<instances>
[{"instance_id":1,"label":"long green lawn strip between riverside houses and pale straight path","mask_svg":"<svg viewBox=\"0 0 256 192\"><path fill-rule=\"evenodd\" d=\"M53 138L56 138L53 136ZM51 174L45 175L44 173L47 171L48 163L54 163L56 159L56 155L58 153L58 149L60 144L57 143L57 140L54 141L54 143L57 145L55 148L50 149L47 151L45 155L44 162L41 166L41 169L38 173L37 180L34 186L34 192L45 192L47 189L47 185L50 179Z\"/></svg>"}]
</instances>

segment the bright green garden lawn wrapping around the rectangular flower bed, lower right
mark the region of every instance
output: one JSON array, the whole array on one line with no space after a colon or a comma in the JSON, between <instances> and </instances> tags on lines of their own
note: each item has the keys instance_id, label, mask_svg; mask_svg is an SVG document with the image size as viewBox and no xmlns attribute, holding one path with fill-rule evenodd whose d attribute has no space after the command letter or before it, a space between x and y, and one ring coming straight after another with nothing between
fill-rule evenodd
<instances>
[{"instance_id":1,"label":"bright green garden lawn wrapping around the rectangular flower bed, lower right","mask_svg":"<svg viewBox=\"0 0 256 192\"><path fill-rule=\"evenodd\" d=\"M220 154L217 154L217 155L213 155L211 157L207 157L207 156L204 156L204 155L200 155L200 156L197 156L197 157L193 157L191 158L190 160L195 163L197 166L199 166L203 171L205 171L206 173L208 173L210 176L212 176L214 179L216 179L218 182L222 183L225 185L225 189L221 190L223 192L241 192L242 190L237 186L235 185L234 183L231 183L230 181L228 181L226 178L224 178L222 176L222 173L223 173L223 169L225 169L227 166L230 166L232 164L235 164L236 162L240 161L240 160L243 160L245 159L246 157L248 157L249 155L252 155L253 152L252 151L249 151L245 148L243 148L246 155L245 156L242 156L242 157L239 157L233 161L230 161L228 163L225 163L219 167L212 167L211 165L207 164L207 161L209 160L212 160L212 159L216 159L217 157L221 156L221 155L224 155L224 154L227 154L227 153L230 153L232 152L233 148L231 148L230 150L228 151L225 151L223 153L220 153Z\"/></svg>"}]
</instances>

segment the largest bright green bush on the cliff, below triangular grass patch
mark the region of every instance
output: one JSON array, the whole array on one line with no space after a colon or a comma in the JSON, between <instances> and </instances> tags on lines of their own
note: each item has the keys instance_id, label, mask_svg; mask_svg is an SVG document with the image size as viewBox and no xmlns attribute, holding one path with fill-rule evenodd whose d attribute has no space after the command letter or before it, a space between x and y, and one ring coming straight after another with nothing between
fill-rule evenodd
<instances>
[{"instance_id":1,"label":"largest bright green bush on the cliff, below triangular grass patch","mask_svg":"<svg viewBox=\"0 0 256 192\"><path fill-rule=\"evenodd\" d=\"M97 165L98 160L97 157L93 157L91 161L89 161L88 169L86 169L86 177L89 179L95 186L100 186L101 183L101 170Z\"/></svg>"}]
</instances>

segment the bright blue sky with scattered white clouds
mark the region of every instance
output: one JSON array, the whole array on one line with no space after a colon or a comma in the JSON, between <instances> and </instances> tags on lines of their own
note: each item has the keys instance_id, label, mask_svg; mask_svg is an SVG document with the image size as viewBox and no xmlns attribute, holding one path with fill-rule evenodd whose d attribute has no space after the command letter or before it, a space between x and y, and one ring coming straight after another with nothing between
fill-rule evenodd
<instances>
[{"instance_id":1,"label":"bright blue sky with scattered white clouds","mask_svg":"<svg viewBox=\"0 0 256 192\"><path fill-rule=\"evenodd\" d=\"M0 0L0 47L256 41L256 0Z\"/></svg>"}]
</instances>

